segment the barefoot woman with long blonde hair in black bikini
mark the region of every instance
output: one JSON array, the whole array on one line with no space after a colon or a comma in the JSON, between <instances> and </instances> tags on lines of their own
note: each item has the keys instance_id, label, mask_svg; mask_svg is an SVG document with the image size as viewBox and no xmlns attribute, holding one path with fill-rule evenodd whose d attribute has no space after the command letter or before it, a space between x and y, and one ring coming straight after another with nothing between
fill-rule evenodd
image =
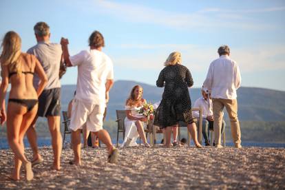
<instances>
[{"instance_id":1,"label":"barefoot woman with long blonde hair in black bikini","mask_svg":"<svg viewBox=\"0 0 285 190\"><path fill-rule=\"evenodd\" d=\"M35 56L21 52L21 38L16 32L7 32L1 47L0 119L1 125L7 119L8 143L14 152L14 171L10 179L20 180L23 163L26 179L32 180L34 173L31 162L24 155L23 137L36 116L38 96L47 83L47 77ZM41 78L37 91L32 84L34 73ZM5 97L9 82L11 89L6 114Z\"/></svg>"}]
</instances>

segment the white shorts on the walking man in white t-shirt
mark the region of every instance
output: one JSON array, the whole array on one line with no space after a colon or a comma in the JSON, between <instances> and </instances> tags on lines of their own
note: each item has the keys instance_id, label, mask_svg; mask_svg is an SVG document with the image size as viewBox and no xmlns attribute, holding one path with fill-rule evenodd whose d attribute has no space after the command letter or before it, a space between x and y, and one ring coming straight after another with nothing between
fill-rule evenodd
<instances>
[{"instance_id":1,"label":"white shorts on the walking man in white t-shirt","mask_svg":"<svg viewBox=\"0 0 285 190\"><path fill-rule=\"evenodd\" d=\"M100 131L103 129L105 107L105 104L91 104L74 99L72 103L70 129L72 129L72 131L82 129L86 123L87 130L93 132Z\"/></svg>"}]
</instances>

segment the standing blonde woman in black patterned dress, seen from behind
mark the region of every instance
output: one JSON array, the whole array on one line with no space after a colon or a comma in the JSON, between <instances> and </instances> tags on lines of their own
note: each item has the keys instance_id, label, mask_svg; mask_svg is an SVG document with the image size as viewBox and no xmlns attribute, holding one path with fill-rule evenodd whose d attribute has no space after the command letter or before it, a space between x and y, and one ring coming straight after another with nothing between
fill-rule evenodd
<instances>
[{"instance_id":1,"label":"standing blonde woman in black patterned dress, seen from behind","mask_svg":"<svg viewBox=\"0 0 285 190\"><path fill-rule=\"evenodd\" d=\"M193 85L193 78L187 67L181 65L179 52L172 52L169 55L165 61L165 68L158 76L156 85L165 87L162 101L156 109L154 125L165 129L166 146L171 146L171 127L175 127L179 121L184 121L187 123L187 128L196 147L202 147L197 140L196 124L193 122L191 114L188 87Z\"/></svg>"}]
</instances>

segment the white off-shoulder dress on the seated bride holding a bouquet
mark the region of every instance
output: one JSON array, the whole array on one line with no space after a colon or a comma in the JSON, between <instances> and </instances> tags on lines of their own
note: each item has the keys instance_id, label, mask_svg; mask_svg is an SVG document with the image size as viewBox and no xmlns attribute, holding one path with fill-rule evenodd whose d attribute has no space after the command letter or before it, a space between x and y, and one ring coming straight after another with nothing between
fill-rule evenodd
<instances>
[{"instance_id":1,"label":"white off-shoulder dress on the seated bride holding a bouquet","mask_svg":"<svg viewBox=\"0 0 285 190\"><path fill-rule=\"evenodd\" d=\"M143 118L141 114L138 114L138 110L140 108L141 107L133 107L133 106L131 107L129 105L125 106L125 110L130 110L132 116ZM145 128L145 122L142 122L142 124L144 125L143 127ZM138 129L136 127L136 120L129 120L129 118L125 117L125 139L122 144L122 147L124 147L128 138L131 140L131 142L129 143L130 147L138 145L136 144L136 139L138 138Z\"/></svg>"}]
</instances>

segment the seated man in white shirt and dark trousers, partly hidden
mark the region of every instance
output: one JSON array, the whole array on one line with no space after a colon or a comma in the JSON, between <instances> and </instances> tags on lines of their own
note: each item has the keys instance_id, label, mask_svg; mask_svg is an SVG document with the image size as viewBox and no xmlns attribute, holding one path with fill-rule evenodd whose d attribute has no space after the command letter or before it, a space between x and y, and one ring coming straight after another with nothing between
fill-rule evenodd
<instances>
[{"instance_id":1,"label":"seated man in white shirt and dark trousers, partly hidden","mask_svg":"<svg viewBox=\"0 0 285 190\"><path fill-rule=\"evenodd\" d=\"M209 129L213 129L213 102L211 99L211 94L209 93L209 90L206 88L202 88L201 90L202 97L198 98L195 103L194 107L200 107L202 109L202 134L204 136L205 145L209 146ZM194 118L199 118L199 112L193 111L192 115ZM199 121L198 121L199 125ZM197 126L198 126L197 125ZM226 122L222 120L222 131L221 134L224 133L224 128L226 126Z\"/></svg>"}]
</instances>

